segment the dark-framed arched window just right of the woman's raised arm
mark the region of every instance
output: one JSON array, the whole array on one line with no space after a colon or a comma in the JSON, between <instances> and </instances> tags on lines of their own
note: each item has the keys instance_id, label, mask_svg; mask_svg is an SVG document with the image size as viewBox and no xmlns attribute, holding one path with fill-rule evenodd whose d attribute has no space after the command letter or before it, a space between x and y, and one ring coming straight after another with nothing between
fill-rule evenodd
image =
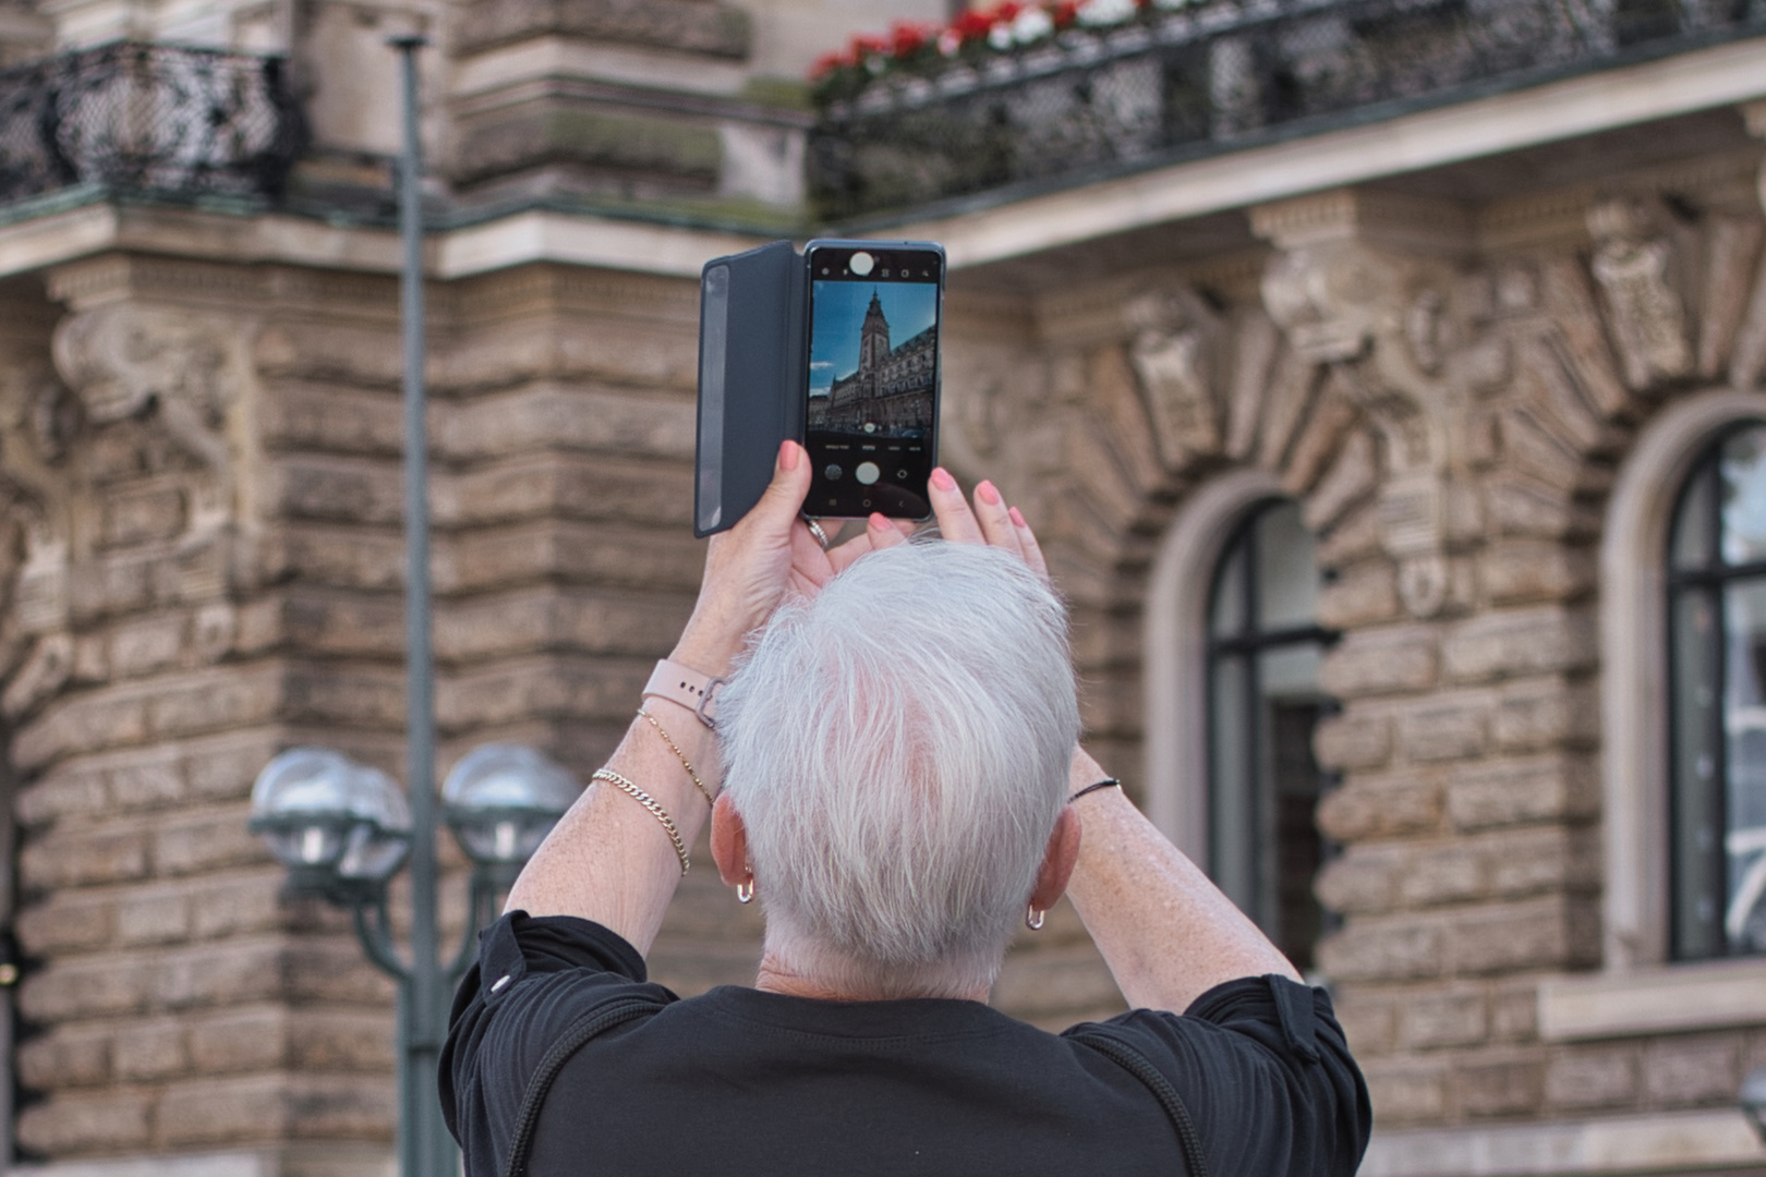
<instances>
[{"instance_id":1,"label":"dark-framed arched window just right of the woman's raised arm","mask_svg":"<svg viewBox=\"0 0 1766 1177\"><path fill-rule=\"evenodd\" d=\"M1252 508L1215 565L1206 619L1208 873L1305 971L1324 930L1312 881L1326 775L1312 729L1324 642L1300 506Z\"/></svg>"}]
</instances>

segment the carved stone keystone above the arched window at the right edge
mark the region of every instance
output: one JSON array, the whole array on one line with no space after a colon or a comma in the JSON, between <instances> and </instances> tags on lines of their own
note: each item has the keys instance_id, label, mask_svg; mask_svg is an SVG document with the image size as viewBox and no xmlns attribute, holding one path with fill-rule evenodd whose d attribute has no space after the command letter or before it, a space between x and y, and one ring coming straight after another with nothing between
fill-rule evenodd
<instances>
[{"instance_id":1,"label":"carved stone keystone above the arched window at the right edge","mask_svg":"<svg viewBox=\"0 0 1766 1177\"><path fill-rule=\"evenodd\" d=\"M1619 196L1588 212L1595 238L1589 270L1607 304L1607 323L1625 383L1642 390L1692 371L1687 307L1672 286L1674 242L1660 201Z\"/></svg>"}]
</instances>

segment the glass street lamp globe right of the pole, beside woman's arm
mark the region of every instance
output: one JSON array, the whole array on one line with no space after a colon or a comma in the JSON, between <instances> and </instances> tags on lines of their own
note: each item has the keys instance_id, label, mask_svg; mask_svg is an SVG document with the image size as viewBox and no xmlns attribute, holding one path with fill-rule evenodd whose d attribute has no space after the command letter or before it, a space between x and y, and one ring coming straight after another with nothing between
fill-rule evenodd
<instances>
[{"instance_id":1,"label":"glass street lamp globe right of the pole, beside woman's arm","mask_svg":"<svg viewBox=\"0 0 1766 1177\"><path fill-rule=\"evenodd\" d=\"M466 858L519 870L576 801L576 778L533 748L479 745L442 783L447 824Z\"/></svg>"}]
</instances>

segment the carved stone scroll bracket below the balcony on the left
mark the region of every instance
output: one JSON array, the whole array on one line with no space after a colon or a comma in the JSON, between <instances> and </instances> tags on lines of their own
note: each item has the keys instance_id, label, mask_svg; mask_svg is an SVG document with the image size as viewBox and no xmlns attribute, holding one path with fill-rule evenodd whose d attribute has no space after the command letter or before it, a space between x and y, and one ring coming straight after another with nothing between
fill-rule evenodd
<instances>
[{"instance_id":1,"label":"carved stone scroll bracket below the balcony on the left","mask_svg":"<svg viewBox=\"0 0 1766 1177\"><path fill-rule=\"evenodd\" d=\"M226 420L240 379L230 334L228 323L138 305L74 314L55 332L55 365L87 422L152 420L196 464L191 533L219 528L233 510Z\"/></svg>"}]
</instances>

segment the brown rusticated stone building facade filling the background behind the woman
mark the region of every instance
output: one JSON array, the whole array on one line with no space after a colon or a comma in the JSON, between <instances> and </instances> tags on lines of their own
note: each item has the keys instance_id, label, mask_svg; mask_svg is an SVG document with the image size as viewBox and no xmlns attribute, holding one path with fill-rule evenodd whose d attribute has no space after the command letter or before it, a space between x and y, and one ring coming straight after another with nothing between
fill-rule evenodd
<instances>
[{"instance_id":1,"label":"brown rusticated stone building facade filling the background behind the woman","mask_svg":"<svg viewBox=\"0 0 1766 1177\"><path fill-rule=\"evenodd\" d=\"M380 39L436 41L442 764L516 739L586 776L698 581L698 268L802 228L809 116L766 76L834 18L798 7L0 25L9 55L288 49L311 124L283 203L64 192L0 224L21 1170L390 1170L390 988L244 824L284 746L403 753ZM1370 1177L1766 1173L1732 1108L1766 958L1669 946L1664 595L1688 473L1766 420L1762 102L1754 35L874 229L945 244L943 459L1037 522L1091 741L1204 861L1211 575L1247 514L1298 505L1335 635L1317 969ZM689 875L653 972L754 958ZM1065 907L996 1001L1120 1008Z\"/></svg>"}]
</instances>

